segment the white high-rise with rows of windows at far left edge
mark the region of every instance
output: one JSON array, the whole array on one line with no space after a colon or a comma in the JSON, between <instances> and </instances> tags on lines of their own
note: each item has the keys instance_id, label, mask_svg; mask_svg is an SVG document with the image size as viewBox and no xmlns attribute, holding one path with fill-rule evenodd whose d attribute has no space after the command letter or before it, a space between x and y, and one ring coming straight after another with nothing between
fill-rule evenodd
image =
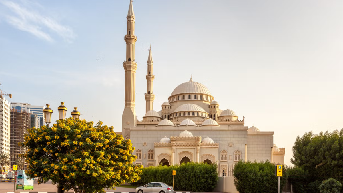
<instances>
[{"instance_id":1,"label":"white high-rise with rows of windows at far left edge","mask_svg":"<svg viewBox=\"0 0 343 193\"><path fill-rule=\"evenodd\" d=\"M0 98L0 153L10 156L10 102Z\"/></svg>"}]
</instances>

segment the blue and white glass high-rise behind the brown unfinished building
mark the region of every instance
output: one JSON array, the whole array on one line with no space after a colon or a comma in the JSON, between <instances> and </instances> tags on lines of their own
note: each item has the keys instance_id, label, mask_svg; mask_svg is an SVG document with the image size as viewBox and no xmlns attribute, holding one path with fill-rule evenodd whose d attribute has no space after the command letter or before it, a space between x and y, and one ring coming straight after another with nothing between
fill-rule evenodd
<instances>
[{"instance_id":1,"label":"blue and white glass high-rise behind the brown unfinished building","mask_svg":"<svg viewBox=\"0 0 343 193\"><path fill-rule=\"evenodd\" d=\"M44 113L43 113L44 106L31 105L28 103L11 102L11 109L14 109L16 111L26 111L27 113L30 113L30 114L36 114L39 121L38 121L38 125L35 127L39 128L44 125L44 122L45 122Z\"/></svg>"}]
</instances>

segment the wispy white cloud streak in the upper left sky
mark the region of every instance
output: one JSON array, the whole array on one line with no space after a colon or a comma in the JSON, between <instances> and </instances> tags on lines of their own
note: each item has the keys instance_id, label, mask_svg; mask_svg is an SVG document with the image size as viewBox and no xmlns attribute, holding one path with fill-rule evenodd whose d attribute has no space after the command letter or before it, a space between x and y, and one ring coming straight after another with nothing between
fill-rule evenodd
<instances>
[{"instance_id":1,"label":"wispy white cloud streak in the upper left sky","mask_svg":"<svg viewBox=\"0 0 343 193\"><path fill-rule=\"evenodd\" d=\"M15 15L7 15L6 19L8 23L19 30L29 32L48 42L54 41L49 32L56 33L67 42L72 42L76 37L70 27L61 25L48 16L39 14L34 10L28 10L23 5L11 1L3 0L1 3L15 13Z\"/></svg>"}]
</instances>

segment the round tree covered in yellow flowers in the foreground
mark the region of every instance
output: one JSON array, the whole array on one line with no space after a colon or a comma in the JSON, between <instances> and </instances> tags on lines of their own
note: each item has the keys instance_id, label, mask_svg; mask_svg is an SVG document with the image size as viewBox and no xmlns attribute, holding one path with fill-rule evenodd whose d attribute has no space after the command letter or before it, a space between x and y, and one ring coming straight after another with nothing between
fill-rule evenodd
<instances>
[{"instance_id":1,"label":"round tree covered in yellow flowers in the foreground","mask_svg":"<svg viewBox=\"0 0 343 193\"><path fill-rule=\"evenodd\" d=\"M28 148L23 156L29 177L39 177L38 183L51 180L76 193L104 192L139 180L142 172L132 164L137 157L131 141L102 122L67 118L53 127L32 127L20 145Z\"/></svg>"}]
</instances>

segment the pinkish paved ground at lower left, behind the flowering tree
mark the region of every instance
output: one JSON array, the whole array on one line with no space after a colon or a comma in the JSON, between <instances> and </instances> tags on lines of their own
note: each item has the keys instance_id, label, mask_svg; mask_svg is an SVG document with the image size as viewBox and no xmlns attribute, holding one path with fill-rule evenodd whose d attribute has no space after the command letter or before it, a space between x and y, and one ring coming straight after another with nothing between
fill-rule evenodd
<instances>
[{"instance_id":1,"label":"pinkish paved ground at lower left, behind the flowering tree","mask_svg":"<svg viewBox=\"0 0 343 193\"><path fill-rule=\"evenodd\" d=\"M13 192L14 190L14 182L0 182L0 193L5 192ZM134 192L133 188L121 188L118 187L116 190L111 189L105 189L108 192ZM16 190L16 193L19 193L20 191L24 190ZM32 191L32 190L26 190L26 191ZM33 191L44 191L44 192L57 192L57 186L51 184L51 181L48 181L46 184L38 184L37 181L34 182L33 185ZM73 190L70 190L70 192L73 192Z\"/></svg>"}]
</instances>

